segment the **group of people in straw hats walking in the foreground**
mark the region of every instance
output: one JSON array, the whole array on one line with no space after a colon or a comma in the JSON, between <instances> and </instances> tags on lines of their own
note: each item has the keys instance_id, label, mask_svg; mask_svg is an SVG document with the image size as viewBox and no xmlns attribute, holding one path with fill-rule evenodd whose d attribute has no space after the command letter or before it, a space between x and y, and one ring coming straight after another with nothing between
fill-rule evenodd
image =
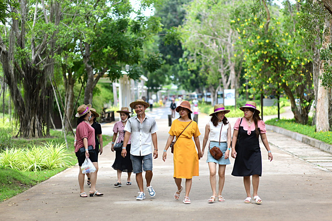
<instances>
[{"instance_id":1,"label":"group of people in straw hats walking in the foreground","mask_svg":"<svg viewBox=\"0 0 332 221\"><path fill-rule=\"evenodd\" d=\"M149 107L149 103L142 99L137 99L130 103L129 106L135 110L136 116L130 117L131 112L127 107L122 107L121 110L117 111L120 113L121 120L114 125L111 150L114 151L115 146L119 150L116 151L116 159L112 167L117 170L118 174L118 181L115 186L122 186L122 172L128 173L126 185L131 185L131 173L133 172L136 175L136 183L139 188L136 200L143 200L145 199L143 171L145 171L146 191L150 197L156 195L151 186L151 180L153 175L152 158L156 159L158 157L156 134L158 127L155 120L145 114L145 110ZM213 203L216 200L219 202L225 201L221 193L225 182L225 168L227 164L230 164L229 155L231 155L231 157L235 158L232 175L243 177L244 187L247 194L247 198L244 202L250 203L252 200L250 193L250 177L252 177L253 199L257 204L262 203L261 198L257 194L259 177L262 175L262 158L259 146L259 136L268 151L268 159L270 161L272 161L273 156L266 138L265 124L259 117L260 111L256 109L256 103L248 101L244 106L240 107L240 110L243 111L244 117L237 119L234 124L233 137L231 138L231 126L225 117L225 114L229 113L230 110L226 110L222 104L215 105L213 113L210 114L211 119L205 127L203 147L201 149L199 140L201 133L199 132L197 123L191 118L193 111L191 110L190 103L188 101L182 101L181 104L175 108L175 111L179 113L179 118L172 122L171 128L168 132L169 137L162 156L163 161L165 161L167 158L167 150L171 147L174 163L173 178L177 186L177 190L174 193L174 199L178 200L180 198L180 194L184 188L181 185L182 179L186 179L183 203L191 203L189 193L192 186L192 177L199 176L199 159L203 157L207 141L210 140L206 162L208 163L210 171L212 196L207 201L209 203ZM91 130L93 128L91 126L89 128L90 124L88 124L90 120L89 116L93 114L94 117L96 117L95 113L91 114L91 105L81 105L78 108L78 113L76 114L76 116L79 117L76 129L78 145L76 146L86 147L86 153L84 157L79 157L78 154L76 154L76 156L79 166L82 165L85 157L89 157L96 166L96 172L90 175L91 189L89 193L90 196L101 196L103 194L95 189L98 171L98 158L96 157L96 153L98 152L95 151L95 153L92 154L87 148L89 145L95 147L95 141L92 141L92 138L90 137L95 136L94 138L96 138L96 135L94 135L93 130ZM80 126L82 124L81 122L85 124ZM93 133L93 135L89 136L89 133ZM117 140L116 138L118 134L119 138ZM173 141L174 137L176 137L175 141ZM194 140L192 138L194 138ZM89 139L91 142L89 142ZM99 150L101 154L102 141L100 142L99 140L99 143L101 143L101 148ZM153 144L153 151L151 143ZM77 152L76 146L75 152ZM213 156L213 153L211 155L210 150L216 148L221 151L221 158ZM94 149L96 150L96 148ZM216 191L217 165L219 176L218 193ZM87 197L83 189L84 174L81 174L81 171L79 174L79 183L81 189L80 196Z\"/></svg>"}]
</instances>

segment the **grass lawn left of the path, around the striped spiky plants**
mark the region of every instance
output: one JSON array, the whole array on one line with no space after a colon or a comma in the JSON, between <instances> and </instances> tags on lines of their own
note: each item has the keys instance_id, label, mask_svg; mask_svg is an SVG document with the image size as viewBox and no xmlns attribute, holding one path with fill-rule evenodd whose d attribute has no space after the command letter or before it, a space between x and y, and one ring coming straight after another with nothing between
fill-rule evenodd
<instances>
[{"instance_id":1,"label":"grass lawn left of the path, around the striped spiky plants","mask_svg":"<svg viewBox=\"0 0 332 221\"><path fill-rule=\"evenodd\" d=\"M42 145L47 141L54 140L57 143L64 142L64 137L61 135L60 131L50 131L51 137L49 138L35 138L35 139L24 139L24 138L14 138L12 146L16 147L30 147L33 145ZM74 136L68 135L68 149L66 153L72 158L68 158L73 164L77 163L77 158L74 153L73 141ZM103 135L103 146L106 146L112 141L112 137ZM18 193L22 193L25 190L41 183L44 180L54 176L55 174L65 170L66 168L60 168L56 170L42 170L42 171L19 171L11 168L0 167L0 202L11 198Z\"/></svg>"}]
</instances>

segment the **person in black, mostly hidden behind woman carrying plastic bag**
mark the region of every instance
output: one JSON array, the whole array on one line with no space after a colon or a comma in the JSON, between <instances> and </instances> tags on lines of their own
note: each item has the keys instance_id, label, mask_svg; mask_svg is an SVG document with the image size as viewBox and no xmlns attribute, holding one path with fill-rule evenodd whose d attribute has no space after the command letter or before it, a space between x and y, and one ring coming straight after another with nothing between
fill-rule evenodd
<instances>
[{"instance_id":1,"label":"person in black, mostly hidden behind woman carrying plastic bag","mask_svg":"<svg viewBox=\"0 0 332 221\"><path fill-rule=\"evenodd\" d=\"M96 121L96 118L99 117L99 114L97 113L96 109L92 108L90 109L91 111L91 118L89 120L89 124L93 129L95 129L95 152L97 156L97 162L98 162L98 153L100 155L103 153L103 137L102 137L102 127L101 125ZM100 148L99 148L100 144ZM75 139L74 139L74 147L77 145L77 137L75 134ZM90 182L90 173L86 174L86 177L88 178L87 184L91 187L91 182Z\"/></svg>"}]
</instances>

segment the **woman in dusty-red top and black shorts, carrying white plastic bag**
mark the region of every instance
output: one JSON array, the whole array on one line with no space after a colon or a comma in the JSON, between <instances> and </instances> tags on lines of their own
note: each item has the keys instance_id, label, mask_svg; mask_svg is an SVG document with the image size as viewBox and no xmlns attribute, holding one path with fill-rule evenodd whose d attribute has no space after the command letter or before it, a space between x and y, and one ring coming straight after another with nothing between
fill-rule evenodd
<instances>
[{"instance_id":1,"label":"woman in dusty-red top and black shorts, carrying white plastic bag","mask_svg":"<svg viewBox=\"0 0 332 221\"><path fill-rule=\"evenodd\" d=\"M77 118L77 128L76 128L76 137L77 137L77 145L75 146L75 155L78 160L79 165L79 174L78 174L78 183L80 186L80 196L87 197L87 194L84 192L84 177L85 175L82 173L81 166L85 161L86 157L88 157L92 164L95 166L96 171L90 173L90 196L102 196L103 193L99 193L96 190L96 180L97 180L97 172L98 172L98 159L95 151L88 151L89 146L95 149L95 130L91 127L89 121L91 119L91 104L84 105L82 104L77 108L77 114L75 117ZM85 154L83 156L80 155L78 151L79 148L85 149Z\"/></svg>"}]
</instances>

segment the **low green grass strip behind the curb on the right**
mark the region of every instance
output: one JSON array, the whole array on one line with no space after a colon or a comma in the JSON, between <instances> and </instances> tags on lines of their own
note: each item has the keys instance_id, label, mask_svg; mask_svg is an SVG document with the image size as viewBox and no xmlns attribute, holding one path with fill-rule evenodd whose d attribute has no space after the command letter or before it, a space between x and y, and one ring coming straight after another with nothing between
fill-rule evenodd
<instances>
[{"instance_id":1,"label":"low green grass strip behind the curb on the right","mask_svg":"<svg viewBox=\"0 0 332 221\"><path fill-rule=\"evenodd\" d=\"M332 132L326 131L326 132L316 132L316 126L311 126L312 119L308 120L308 124L302 125L296 123L295 119L286 120L286 119L271 119L265 122L265 124L281 127L293 132L297 132L303 135L306 135L311 138L318 139L320 141L323 141L327 144L332 144Z\"/></svg>"}]
</instances>

